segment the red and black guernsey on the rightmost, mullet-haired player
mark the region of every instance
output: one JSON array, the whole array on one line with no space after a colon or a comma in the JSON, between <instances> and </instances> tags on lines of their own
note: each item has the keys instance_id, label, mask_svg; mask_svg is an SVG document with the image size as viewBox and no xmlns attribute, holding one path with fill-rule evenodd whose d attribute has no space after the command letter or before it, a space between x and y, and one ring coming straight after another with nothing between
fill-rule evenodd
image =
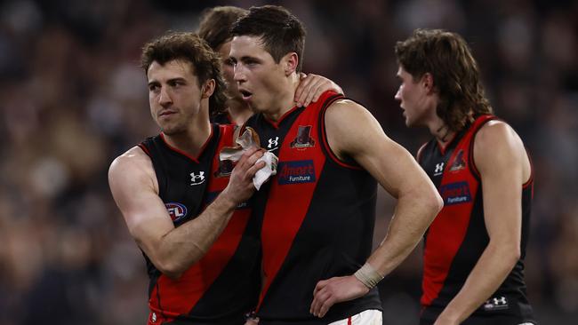
<instances>
[{"instance_id":1,"label":"red and black guernsey on the rightmost, mullet-haired player","mask_svg":"<svg viewBox=\"0 0 578 325\"><path fill-rule=\"evenodd\" d=\"M418 162L444 200L444 208L425 234L422 324L433 323L462 289L489 242L484 220L482 186L473 161L473 147L479 129L494 119L494 115L480 115L464 131L456 134L446 148L440 147L436 139L431 139L422 147L418 156ZM533 320L524 281L533 180L531 177L521 189L521 258L500 288L464 324L469 321L476 323L475 319L486 317L518 321L512 324Z\"/></svg>"}]
</instances>

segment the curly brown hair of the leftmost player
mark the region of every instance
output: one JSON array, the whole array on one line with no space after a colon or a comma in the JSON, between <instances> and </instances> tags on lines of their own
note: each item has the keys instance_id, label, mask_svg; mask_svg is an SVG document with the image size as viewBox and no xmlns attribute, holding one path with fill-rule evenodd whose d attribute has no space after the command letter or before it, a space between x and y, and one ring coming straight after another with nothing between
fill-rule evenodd
<instances>
[{"instance_id":1,"label":"curly brown hair of the leftmost player","mask_svg":"<svg viewBox=\"0 0 578 325\"><path fill-rule=\"evenodd\" d=\"M209 79L215 81L213 95L209 99L209 112L211 115L223 112L227 101L224 92L226 85L221 75L219 56L209 45L194 33L168 33L144 45L140 55L140 67L146 74L153 62L165 65L173 59L182 59L191 64L199 86Z\"/></svg>"}]
</instances>

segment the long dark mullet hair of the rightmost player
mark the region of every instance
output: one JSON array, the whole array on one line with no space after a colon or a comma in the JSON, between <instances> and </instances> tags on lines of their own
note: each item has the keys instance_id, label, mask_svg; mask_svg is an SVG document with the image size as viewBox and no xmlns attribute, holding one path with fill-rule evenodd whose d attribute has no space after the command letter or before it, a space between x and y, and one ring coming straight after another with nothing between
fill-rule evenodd
<instances>
[{"instance_id":1,"label":"long dark mullet hair of the rightmost player","mask_svg":"<svg viewBox=\"0 0 578 325\"><path fill-rule=\"evenodd\" d=\"M479 81L476 59L462 36L441 29L416 29L396 44L397 63L413 80L429 73L438 91L438 116L452 131L460 131L477 115L492 114Z\"/></svg>"}]
</instances>

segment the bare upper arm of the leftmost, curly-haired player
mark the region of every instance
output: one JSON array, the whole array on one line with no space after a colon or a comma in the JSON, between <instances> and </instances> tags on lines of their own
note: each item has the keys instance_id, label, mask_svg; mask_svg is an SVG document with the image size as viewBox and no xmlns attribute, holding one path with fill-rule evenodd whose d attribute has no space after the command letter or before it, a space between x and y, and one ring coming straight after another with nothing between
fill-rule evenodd
<instances>
[{"instance_id":1,"label":"bare upper arm of the leftmost, curly-haired player","mask_svg":"<svg viewBox=\"0 0 578 325\"><path fill-rule=\"evenodd\" d=\"M173 222L146 168L116 161L108 171L110 191L134 240L149 257L157 243L173 230Z\"/></svg>"}]
</instances>

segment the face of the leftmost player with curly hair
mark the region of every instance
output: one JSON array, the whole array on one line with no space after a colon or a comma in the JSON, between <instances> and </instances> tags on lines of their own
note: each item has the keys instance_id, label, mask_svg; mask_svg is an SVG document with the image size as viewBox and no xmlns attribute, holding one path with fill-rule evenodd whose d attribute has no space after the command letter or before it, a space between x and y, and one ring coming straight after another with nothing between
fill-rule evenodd
<instances>
[{"instance_id":1,"label":"face of the leftmost player with curly hair","mask_svg":"<svg viewBox=\"0 0 578 325\"><path fill-rule=\"evenodd\" d=\"M201 107L201 90L191 64L181 59L165 65L154 61L147 77L150 114L161 131L167 135L187 131Z\"/></svg>"}]
</instances>

